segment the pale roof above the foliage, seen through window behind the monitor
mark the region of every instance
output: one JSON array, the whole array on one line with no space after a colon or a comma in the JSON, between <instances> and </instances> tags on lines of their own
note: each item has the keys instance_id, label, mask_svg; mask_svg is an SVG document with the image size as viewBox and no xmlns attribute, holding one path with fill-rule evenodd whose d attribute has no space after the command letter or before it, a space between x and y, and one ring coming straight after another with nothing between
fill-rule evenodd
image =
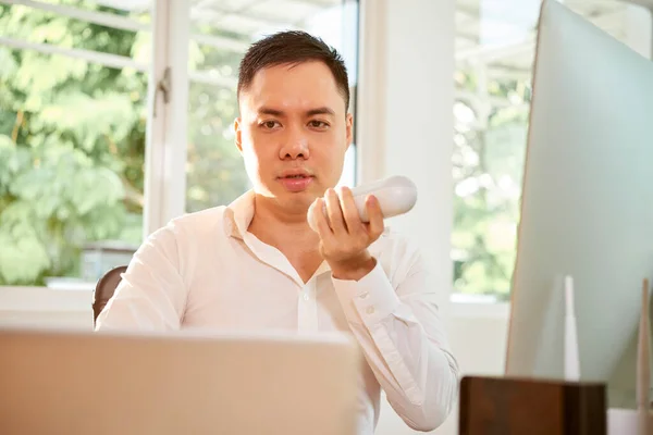
<instances>
[{"instance_id":1,"label":"pale roof above the foliage, seen through window behind the monitor","mask_svg":"<svg viewBox=\"0 0 653 435\"><path fill-rule=\"evenodd\" d=\"M643 55L651 55L651 9L620 0L565 0L564 3ZM456 4L457 71L478 78L477 89L466 91L460 86L457 97L476 113L473 124L484 128L488 115L496 107L528 110L526 94L494 97L488 84L516 79L530 83L540 0L457 0Z\"/></svg>"}]
</instances>

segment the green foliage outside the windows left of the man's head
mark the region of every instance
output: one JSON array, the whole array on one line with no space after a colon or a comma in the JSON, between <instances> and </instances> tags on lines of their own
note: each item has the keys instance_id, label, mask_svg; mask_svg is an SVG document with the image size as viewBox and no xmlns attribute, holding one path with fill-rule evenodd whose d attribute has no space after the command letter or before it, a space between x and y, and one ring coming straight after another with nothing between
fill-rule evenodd
<instances>
[{"instance_id":1,"label":"green foliage outside the windows left of the man's head","mask_svg":"<svg viewBox=\"0 0 653 435\"><path fill-rule=\"evenodd\" d=\"M49 0L113 14L75 0ZM149 15L131 16L147 22ZM131 57L147 63L151 34L94 25L23 5L0 5L2 35ZM204 34L249 42L248 37ZM223 204L249 181L234 146L235 73L242 53L190 41L189 69L219 70L233 86L192 84L186 211ZM139 244L147 76L0 46L0 285L78 276L87 243Z\"/></svg>"}]
</instances>

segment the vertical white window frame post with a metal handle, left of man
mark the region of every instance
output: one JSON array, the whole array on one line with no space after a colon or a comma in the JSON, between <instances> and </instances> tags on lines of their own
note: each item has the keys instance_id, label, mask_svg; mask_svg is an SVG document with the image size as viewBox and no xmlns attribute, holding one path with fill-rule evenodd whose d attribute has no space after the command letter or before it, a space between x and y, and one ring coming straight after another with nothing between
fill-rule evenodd
<instances>
[{"instance_id":1,"label":"vertical white window frame post with a metal handle, left of man","mask_svg":"<svg viewBox=\"0 0 653 435\"><path fill-rule=\"evenodd\" d=\"M185 209L189 7L187 1L157 0L151 11L144 240Z\"/></svg>"}]
</instances>

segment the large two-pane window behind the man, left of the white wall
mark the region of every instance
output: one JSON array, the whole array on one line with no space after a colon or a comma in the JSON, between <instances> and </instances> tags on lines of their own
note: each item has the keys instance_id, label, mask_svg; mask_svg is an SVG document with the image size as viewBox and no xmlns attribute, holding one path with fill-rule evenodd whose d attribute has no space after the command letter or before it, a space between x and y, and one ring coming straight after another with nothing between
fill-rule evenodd
<instances>
[{"instance_id":1,"label":"large two-pane window behind the man, left of the white wall","mask_svg":"<svg viewBox=\"0 0 653 435\"><path fill-rule=\"evenodd\" d=\"M0 0L0 285L91 288L141 243L144 210L161 202L144 186L162 3ZM321 36L344 54L352 110L356 101L357 1L183 4L187 16L174 20L184 30L167 30L188 41L188 98L171 103L187 107L187 159L184 173L155 177L187 186L158 192L180 195L163 198L185 204L174 215L227 203L249 187L231 126L237 66L251 41L285 28ZM156 159L165 152L152 142ZM354 182L355 146L342 179Z\"/></svg>"}]
</instances>

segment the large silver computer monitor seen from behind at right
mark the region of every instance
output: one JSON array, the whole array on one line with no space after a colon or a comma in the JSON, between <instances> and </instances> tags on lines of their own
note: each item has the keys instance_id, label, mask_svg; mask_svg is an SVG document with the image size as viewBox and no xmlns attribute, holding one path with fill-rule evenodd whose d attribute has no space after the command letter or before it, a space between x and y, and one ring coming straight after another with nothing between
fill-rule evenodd
<instances>
[{"instance_id":1,"label":"large silver computer monitor seen from behind at right","mask_svg":"<svg viewBox=\"0 0 653 435\"><path fill-rule=\"evenodd\" d=\"M506 374L564 377L571 276L580 380L634 407L653 282L653 63L567 7L541 7Z\"/></svg>"}]
</instances>

